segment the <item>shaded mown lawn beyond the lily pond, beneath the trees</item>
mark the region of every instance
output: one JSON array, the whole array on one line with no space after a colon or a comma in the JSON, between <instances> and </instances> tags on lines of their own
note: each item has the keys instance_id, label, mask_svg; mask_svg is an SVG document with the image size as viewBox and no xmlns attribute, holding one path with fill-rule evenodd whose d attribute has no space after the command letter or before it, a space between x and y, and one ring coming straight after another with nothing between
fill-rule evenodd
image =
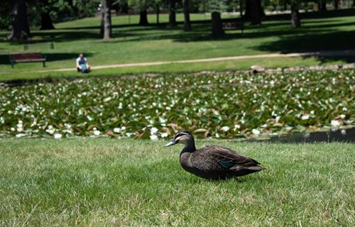
<instances>
[{"instance_id":1,"label":"shaded mown lawn beyond the lily pond, beneath the trees","mask_svg":"<svg viewBox=\"0 0 355 227\"><path fill-rule=\"evenodd\" d=\"M33 30L32 43L54 40L55 49L49 45L35 45L30 51L42 51L48 56L46 70L74 67L79 52L84 52L92 65L111 65L132 62L155 62L168 60L191 60L208 57L257 55L271 52L304 52L314 50L354 49L354 16L332 16L328 18L305 18L302 28L292 29L290 21L264 21L262 26L246 24L244 35L241 31L227 31L222 39L213 39L210 34L209 15L193 14L194 31L185 33L182 24L176 29L160 26L136 26L138 16L113 18L114 38L104 41L99 38L99 19L58 23L53 31ZM346 15L346 14L344 14ZM229 17L224 15L224 17ZM150 16L153 22L153 15ZM161 20L167 21L163 15ZM178 21L182 15L178 14ZM5 36L9 32L0 32ZM0 80L31 79L38 77L62 77L77 75L76 72L47 72L40 63L18 64L11 70L8 53L22 51L23 44L0 40ZM133 74L141 72L191 72L199 70L244 70L251 65L266 67L289 67L294 65L342 64L354 62L354 57L295 57L289 59L270 58L234 60L210 63L160 65L154 67L125 67L109 70L95 70L92 75Z\"/></svg>"}]
</instances>

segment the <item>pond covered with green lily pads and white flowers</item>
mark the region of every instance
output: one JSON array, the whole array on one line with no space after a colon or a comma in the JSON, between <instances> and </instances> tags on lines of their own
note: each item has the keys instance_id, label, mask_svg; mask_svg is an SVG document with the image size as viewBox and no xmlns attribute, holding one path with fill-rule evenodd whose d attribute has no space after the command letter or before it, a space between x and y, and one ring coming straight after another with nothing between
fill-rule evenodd
<instances>
[{"instance_id":1,"label":"pond covered with green lily pads and white flowers","mask_svg":"<svg viewBox=\"0 0 355 227\"><path fill-rule=\"evenodd\" d=\"M255 138L351 128L355 71L127 76L0 87L0 137Z\"/></svg>"}]
</instances>

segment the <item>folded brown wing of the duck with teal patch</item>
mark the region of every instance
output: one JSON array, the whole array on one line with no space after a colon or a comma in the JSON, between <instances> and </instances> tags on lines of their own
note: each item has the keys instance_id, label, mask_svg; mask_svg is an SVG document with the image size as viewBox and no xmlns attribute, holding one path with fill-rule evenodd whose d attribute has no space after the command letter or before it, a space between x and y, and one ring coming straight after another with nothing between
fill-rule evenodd
<instances>
[{"instance_id":1,"label":"folded brown wing of the duck with teal patch","mask_svg":"<svg viewBox=\"0 0 355 227\"><path fill-rule=\"evenodd\" d=\"M203 153L208 153L210 157L214 160L214 162L219 163L222 167L231 168L235 165L239 166L255 166L260 163L256 160L251 159L250 157L246 157L245 155L241 155L236 153L234 150L229 148L225 148L222 146L206 146L203 149Z\"/></svg>"}]
</instances>

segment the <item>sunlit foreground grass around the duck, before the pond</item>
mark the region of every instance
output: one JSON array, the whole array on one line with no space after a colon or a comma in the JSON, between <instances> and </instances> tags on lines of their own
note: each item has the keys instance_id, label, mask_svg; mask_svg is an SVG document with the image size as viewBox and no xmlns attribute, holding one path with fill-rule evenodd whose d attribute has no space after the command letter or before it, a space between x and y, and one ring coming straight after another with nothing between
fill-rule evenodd
<instances>
[{"instance_id":1,"label":"sunlit foreground grass around the duck, before the pond","mask_svg":"<svg viewBox=\"0 0 355 227\"><path fill-rule=\"evenodd\" d=\"M268 169L208 181L165 141L2 139L1 226L354 226L354 144L225 145Z\"/></svg>"}]
</instances>

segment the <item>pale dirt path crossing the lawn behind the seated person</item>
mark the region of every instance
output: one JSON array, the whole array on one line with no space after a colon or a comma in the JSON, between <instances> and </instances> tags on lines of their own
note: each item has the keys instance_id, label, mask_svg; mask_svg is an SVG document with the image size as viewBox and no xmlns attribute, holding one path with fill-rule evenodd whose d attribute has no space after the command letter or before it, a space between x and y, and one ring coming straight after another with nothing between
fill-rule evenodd
<instances>
[{"instance_id":1,"label":"pale dirt path crossing the lawn behind the seated person","mask_svg":"<svg viewBox=\"0 0 355 227\"><path fill-rule=\"evenodd\" d=\"M177 60L177 61L165 61L165 62L141 62L141 63L128 63L128 64L115 64L115 65L97 65L92 66L92 70L99 69L109 69L109 68L119 68L119 67L139 67L139 66L152 66L152 65L168 65L168 64L183 64L183 63L196 63L196 62L218 62L225 60L241 60L249 58L258 58L258 57L310 57L310 56L355 56L355 50L329 50L329 51L319 51L319 52L294 52L288 54L273 53L265 55L242 55L234 57L213 57L213 58L204 58L204 59L194 59L194 60ZM66 71L75 71L75 68L64 68L58 70L40 70L35 72L66 72Z\"/></svg>"}]
</instances>

